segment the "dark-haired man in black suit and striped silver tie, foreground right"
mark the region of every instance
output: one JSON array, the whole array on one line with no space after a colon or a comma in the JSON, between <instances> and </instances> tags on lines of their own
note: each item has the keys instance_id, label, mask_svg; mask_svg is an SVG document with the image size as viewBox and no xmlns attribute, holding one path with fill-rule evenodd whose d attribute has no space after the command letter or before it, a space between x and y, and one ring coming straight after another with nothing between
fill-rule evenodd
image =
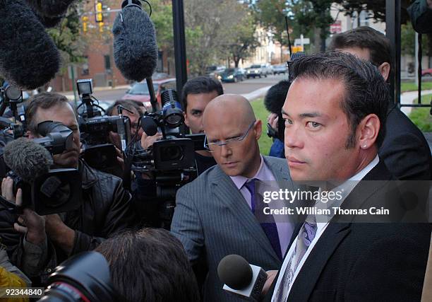
<instances>
[{"instance_id":1,"label":"dark-haired man in black suit and striped silver tie, foreground right","mask_svg":"<svg viewBox=\"0 0 432 302\"><path fill-rule=\"evenodd\" d=\"M299 58L292 75L282 108L292 180L342 198L316 199L330 214L308 214L272 301L419 301L431 228L394 223L409 213L378 156L388 102L382 76L343 52Z\"/></svg>"}]
</instances>

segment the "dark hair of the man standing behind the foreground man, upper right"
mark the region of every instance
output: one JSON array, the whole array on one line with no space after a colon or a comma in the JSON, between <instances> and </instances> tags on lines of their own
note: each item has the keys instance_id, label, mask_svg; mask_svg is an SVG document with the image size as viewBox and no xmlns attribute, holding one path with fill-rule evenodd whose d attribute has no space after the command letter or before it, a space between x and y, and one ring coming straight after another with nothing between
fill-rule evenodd
<instances>
[{"instance_id":1,"label":"dark hair of the man standing behind the foreground man, upper right","mask_svg":"<svg viewBox=\"0 0 432 302\"><path fill-rule=\"evenodd\" d=\"M375 66L385 62L392 65L390 40L383 33L368 26L360 26L332 37L329 50L349 47L366 48L370 52L369 61Z\"/></svg>"}]
</instances>

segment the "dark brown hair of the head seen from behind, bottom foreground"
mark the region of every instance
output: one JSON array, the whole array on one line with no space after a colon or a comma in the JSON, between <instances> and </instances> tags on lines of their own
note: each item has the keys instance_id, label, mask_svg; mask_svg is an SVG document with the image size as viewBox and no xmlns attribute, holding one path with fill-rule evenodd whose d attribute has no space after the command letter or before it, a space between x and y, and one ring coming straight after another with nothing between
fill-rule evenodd
<instances>
[{"instance_id":1,"label":"dark brown hair of the head seen from behind, bottom foreground","mask_svg":"<svg viewBox=\"0 0 432 302\"><path fill-rule=\"evenodd\" d=\"M164 229L125 231L96 248L107 259L121 301L199 301L180 241Z\"/></svg>"}]
</instances>

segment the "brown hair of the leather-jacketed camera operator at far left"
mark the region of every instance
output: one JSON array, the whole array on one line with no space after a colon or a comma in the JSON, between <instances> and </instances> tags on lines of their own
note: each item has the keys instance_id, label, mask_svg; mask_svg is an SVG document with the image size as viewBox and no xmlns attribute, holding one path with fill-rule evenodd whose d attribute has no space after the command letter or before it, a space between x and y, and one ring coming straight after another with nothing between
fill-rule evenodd
<instances>
[{"instance_id":1,"label":"brown hair of the leather-jacketed camera operator at far left","mask_svg":"<svg viewBox=\"0 0 432 302\"><path fill-rule=\"evenodd\" d=\"M25 120L27 121L27 129L32 133L37 133L36 112L37 109L49 109L57 105L68 104L76 114L76 108L69 103L66 96L54 92L42 92L37 95L32 95L28 99L28 106L25 108Z\"/></svg>"}]
</instances>

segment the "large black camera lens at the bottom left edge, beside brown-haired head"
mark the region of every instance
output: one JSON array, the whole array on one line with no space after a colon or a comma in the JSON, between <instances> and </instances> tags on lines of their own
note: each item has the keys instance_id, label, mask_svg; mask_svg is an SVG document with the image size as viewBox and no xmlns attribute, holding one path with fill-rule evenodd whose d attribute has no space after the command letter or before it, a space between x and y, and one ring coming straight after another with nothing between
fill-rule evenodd
<instances>
[{"instance_id":1,"label":"large black camera lens at the bottom left edge, beside brown-haired head","mask_svg":"<svg viewBox=\"0 0 432 302\"><path fill-rule=\"evenodd\" d=\"M81 252L56 267L48 278L43 302L114 302L109 265L99 252Z\"/></svg>"}]
</instances>

